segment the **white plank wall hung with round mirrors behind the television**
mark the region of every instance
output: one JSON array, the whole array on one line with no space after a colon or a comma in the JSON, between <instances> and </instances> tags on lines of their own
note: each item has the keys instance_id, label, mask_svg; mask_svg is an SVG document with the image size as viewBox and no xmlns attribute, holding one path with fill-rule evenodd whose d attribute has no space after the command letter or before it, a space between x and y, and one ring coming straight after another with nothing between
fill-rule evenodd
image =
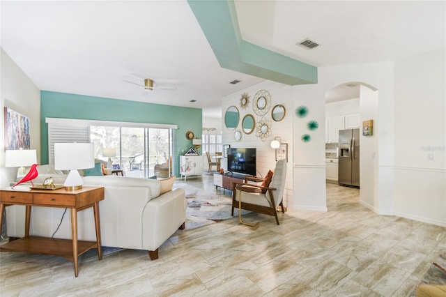
<instances>
[{"instance_id":1,"label":"white plank wall hung with round mirrors behind the television","mask_svg":"<svg viewBox=\"0 0 446 297\"><path fill-rule=\"evenodd\" d=\"M242 131L241 121L246 114L252 114L256 123L261 120L262 116L258 116L254 113L252 108L253 98L258 91L266 90L271 96L271 107L267 114L263 117L270 121L271 130L268 138L262 140L256 137L256 130L252 134L246 135L242 132L242 139L240 142L236 142L234 139L234 131L229 130L224 126L224 113L229 106L233 105L238 108L240 112L240 121L236 130ZM240 107L240 98L243 93L248 93L249 104L246 109ZM282 121L276 122L271 118L272 108L282 104L286 109L286 115ZM261 82L251 86L243 91L233 93L229 96L222 98L222 130L223 130L223 144L230 144L231 147L248 147L257 148L257 176L265 176L269 169L275 167L275 150L270 147L270 142L274 137L281 137L283 144L288 144L289 159L287 164L287 178L284 192L284 206L293 205L293 87L279 84L277 82ZM222 167L226 169L226 158L222 160Z\"/></svg>"}]
</instances>

